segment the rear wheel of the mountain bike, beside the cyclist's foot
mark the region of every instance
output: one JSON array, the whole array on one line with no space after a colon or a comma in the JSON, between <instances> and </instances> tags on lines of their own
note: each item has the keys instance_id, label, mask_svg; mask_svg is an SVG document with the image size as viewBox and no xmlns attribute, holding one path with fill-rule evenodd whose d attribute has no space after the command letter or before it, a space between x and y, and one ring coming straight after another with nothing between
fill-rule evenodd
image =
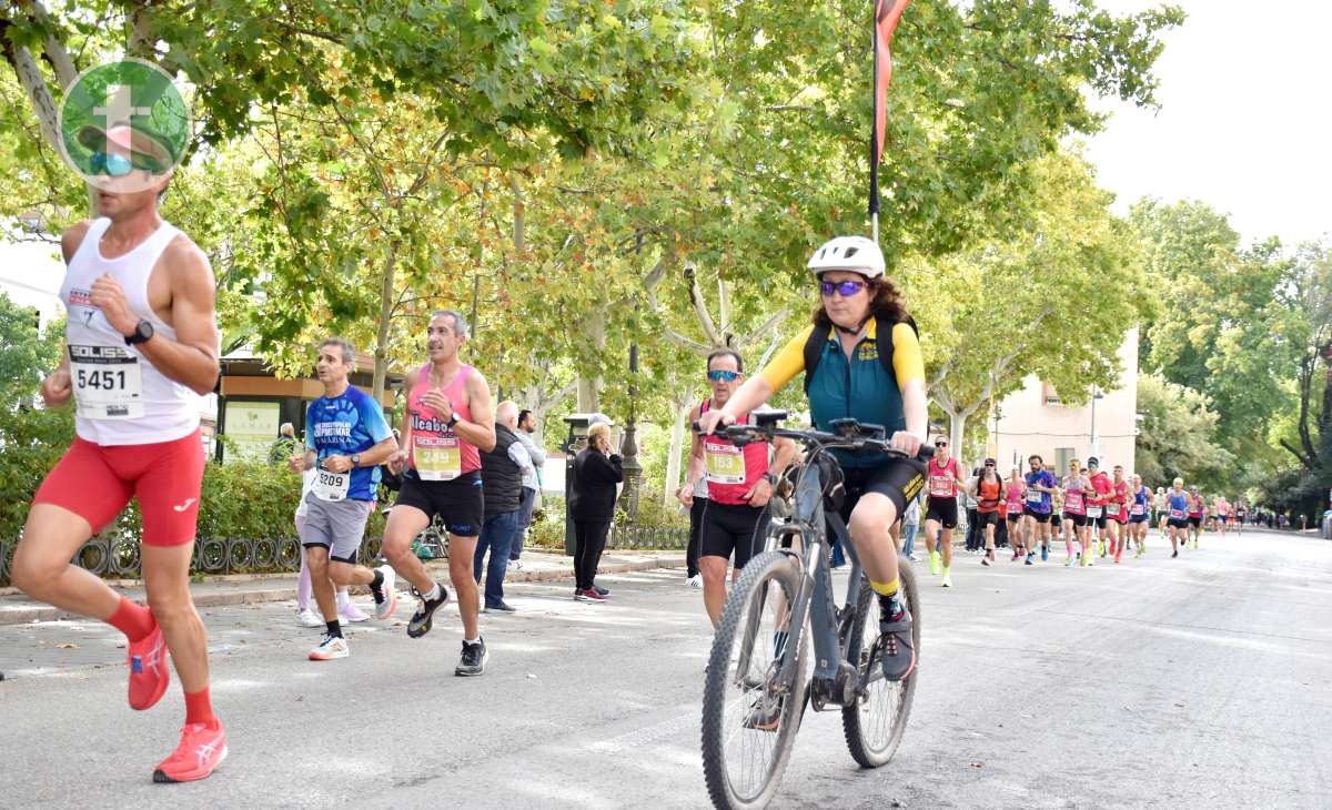
<instances>
[{"instance_id":1,"label":"rear wheel of the mountain bike, beside the cyclist's foot","mask_svg":"<svg viewBox=\"0 0 1332 810\"><path fill-rule=\"evenodd\" d=\"M911 674L896 682L883 677L875 650L879 642L878 598L870 589L868 578L860 581L860 605L851 623L847 659L856 662L862 681L868 675L868 685L866 694L855 706L842 709L842 730L846 733L851 758L860 767L880 767L892 759L902 742L902 733L906 731L907 718L911 715L916 673L920 671L920 600L911 564L900 557L898 577L902 581L902 597L912 619L911 643L916 651L916 667Z\"/></svg>"}]
</instances>

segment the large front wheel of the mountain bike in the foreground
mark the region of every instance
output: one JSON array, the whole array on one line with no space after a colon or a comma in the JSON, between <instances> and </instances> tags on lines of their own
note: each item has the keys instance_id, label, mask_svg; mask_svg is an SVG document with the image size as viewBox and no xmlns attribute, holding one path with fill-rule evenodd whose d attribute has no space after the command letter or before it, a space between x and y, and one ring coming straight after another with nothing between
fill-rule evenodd
<instances>
[{"instance_id":1,"label":"large front wheel of the mountain bike in the foreground","mask_svg":"<svg viewBox=\"0 0 1332 810\"><path fill-rule=\"evenodd\" d=\"M765 552L731 589L703 686L703 775L713 805L763 807L777 793L805 710L806 634L794 682L782 682L797 562Z\"/></svg>"}]
</instances>

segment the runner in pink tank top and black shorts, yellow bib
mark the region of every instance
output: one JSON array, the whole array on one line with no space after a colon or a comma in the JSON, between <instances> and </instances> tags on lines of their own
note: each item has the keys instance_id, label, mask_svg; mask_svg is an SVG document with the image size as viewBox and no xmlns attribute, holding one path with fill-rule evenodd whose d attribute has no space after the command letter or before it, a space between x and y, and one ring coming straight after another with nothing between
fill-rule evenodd
<instances>
[{"instance_id":1,"label":"runner in pink tank top and black shorts, yellow bib","mask_svg":"<svg viewBox=\"0 0 1332 810\"><path fill-rule=\"evenodd\" d=\"M430 631L434 613L449 602L449 590L430 578L412 541L436 518L444 524L449 580L462 617L462 659L453 673L480 675L486 645L477 626L481 605L472 566L485 521L481 452L496 446L494 410L485 378L458 358L468 321L453 310L437 312L426 334L430 362L408 374L404 449L389 462L389 469L402 472L402 492L384 528L384 556L421 600L408 622L408 635L421 638Z\"/></svg>"}]
</instances>

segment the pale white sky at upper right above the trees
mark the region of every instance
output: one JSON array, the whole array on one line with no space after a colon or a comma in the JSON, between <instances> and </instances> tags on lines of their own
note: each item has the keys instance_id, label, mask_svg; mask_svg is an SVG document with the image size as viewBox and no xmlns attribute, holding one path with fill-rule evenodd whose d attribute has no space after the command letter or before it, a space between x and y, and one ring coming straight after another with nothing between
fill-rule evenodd
<instances>
[{"instance_id":1,"label":"pale white sky at upper right above the trees","mask_svg":"<svg viewBox=\"0 0 1332 810\"><path fill-rule=\"evenodd\" d=\"M1138 12L1147 0L1100 0ZM1332 4L1175 0L1188 15L1163 39L1162 109L1114 113L1087 143L1123 213L1143 196L1197 199L1245 242L1332 236Z\"/></svg>"}]
</instances>

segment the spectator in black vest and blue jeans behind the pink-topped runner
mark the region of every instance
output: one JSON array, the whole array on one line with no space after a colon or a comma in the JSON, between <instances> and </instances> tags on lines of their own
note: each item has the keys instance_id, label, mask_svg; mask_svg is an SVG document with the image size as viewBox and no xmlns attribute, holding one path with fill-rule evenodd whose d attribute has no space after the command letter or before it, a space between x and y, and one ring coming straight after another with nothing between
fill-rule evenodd
<instances>
[{"instance_id":1,"label":"spectator in black vest and blue jeans behind the pink-topped runner","mask_svg":"<svg viewBox=\"0 0 1332 810\"><path fill-rule=\"evenodd\" d=\"M503 601L503 577L509 569L509 546L518 534L518 505L522 496L522 476L531 470L531 457L518 441L518 405L510 401L496 406L496 446L481 453L481 486L485 494L485 521L477 538L477 553L472 561L472 576L481 582L481 564L490 549L486 568L485 609L513 613Z\"/></svg>"}]
</instances>

